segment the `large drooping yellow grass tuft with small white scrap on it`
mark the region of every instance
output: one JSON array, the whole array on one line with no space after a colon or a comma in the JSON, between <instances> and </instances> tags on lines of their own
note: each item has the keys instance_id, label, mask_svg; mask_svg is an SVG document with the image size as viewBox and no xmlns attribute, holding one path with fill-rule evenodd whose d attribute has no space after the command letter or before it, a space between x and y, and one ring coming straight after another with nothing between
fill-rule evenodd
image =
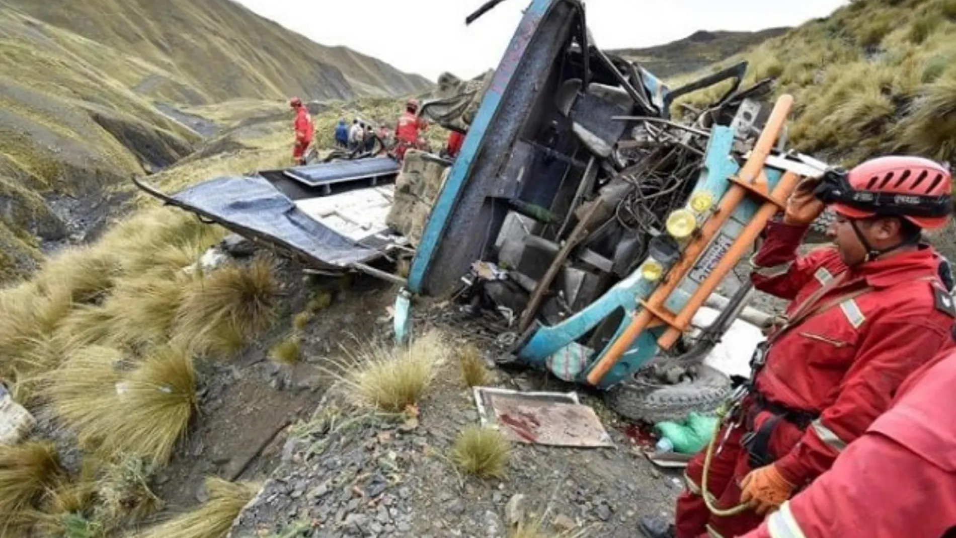
<instances>
[{"instance_id":1,"label":"large drooping yellow grass tuft with small white scrap on it","mask_svg":"<svg viewBox=\"0 0 956 538\"><path fill-rule=\"evenodd\" d=\"M165 463L195 407L192 359L163 347L134 369L120 371L127 360L112 348L82 348L49 374L47 393L84 444L106 455Z\"/></svg>"}]
</instances>

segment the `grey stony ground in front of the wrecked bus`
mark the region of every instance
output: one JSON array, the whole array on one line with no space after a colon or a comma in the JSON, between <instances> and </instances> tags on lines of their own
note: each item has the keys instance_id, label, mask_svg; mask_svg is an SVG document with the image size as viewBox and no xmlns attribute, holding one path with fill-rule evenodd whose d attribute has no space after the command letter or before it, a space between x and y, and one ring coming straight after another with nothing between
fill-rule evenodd
<instances>
[{"instance_id":1,"label":"grey stony ground in front of the wrecked bus","mask_svg":"<svg viewBox=\"0 0 956 538\"><path fill-rule=\"evenodd\" d=\"M448 312L454 307L423 307L419 321L444 325L455 317ZM486 356L497 351L473 326L446 330L482 342ZM574 390L536 372L496 371L493 385ZM582 396L614 448L516 444L507 476L484 481L461 475L448 459L455 436L478 423L456 366L442 369L416 420L348 409L331 391L310 420L293 428L281 464L231 536L490 538L507 536L514 521L543 521L567 535L632 537L641 515L670 513L680 475L658 470L631 437L633 426L594 395Z\"/></svg>"}]
</instances>

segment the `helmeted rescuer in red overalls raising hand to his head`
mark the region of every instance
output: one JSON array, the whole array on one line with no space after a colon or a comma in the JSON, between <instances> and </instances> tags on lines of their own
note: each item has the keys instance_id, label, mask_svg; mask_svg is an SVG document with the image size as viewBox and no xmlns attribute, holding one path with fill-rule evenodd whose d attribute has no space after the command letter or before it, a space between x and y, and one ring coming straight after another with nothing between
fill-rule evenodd
<instances>
[{"instance_id":1,"label":"helmeted rescuer in red overalls raising hand to his head","mask_svg":"<svg viewBox=\"0 0 956 538\"><path fill-rule=\"evenodd\" d=\"M830 468L905 377L953 345L956 311L940 258L920 244L923 228L945 226L951 190L943 166L916 157L874 159L797 185L751 259L754 287L792 301L785 322L758 347L746 396L718 432L707 499L705 451L687 465L675 525L643 518L644 534L730 538L758 527ZM824 204L836 212L833 246L798 256Z\"/></svg>"}]
</instances>

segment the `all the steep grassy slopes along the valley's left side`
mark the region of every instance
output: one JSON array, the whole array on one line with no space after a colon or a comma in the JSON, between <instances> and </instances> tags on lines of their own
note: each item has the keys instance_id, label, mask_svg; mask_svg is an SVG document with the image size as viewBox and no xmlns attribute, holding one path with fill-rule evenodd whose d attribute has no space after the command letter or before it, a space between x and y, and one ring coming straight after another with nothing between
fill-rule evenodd
<instances>
[{"instance_id":1,"label":"all the steep grassy slopes along the valley's left side","mask_svg":"<svg viewBox=\"0 0 956 538\"><path fill-rule=\"evenodd\" d=\"M0 2L0 281L50 242L81 240L77 216L112 185L184 159L202 122L184 105L397 97L429 83L286 31L229 0ZM285 119L285 118L283 118ZM117 199L110 199L115 202ZM115 207L114 207L115 209ZM113 210L113 209L111 209ZM72 238L71 238L72 236Z\"/></svg>"}]
</instances>

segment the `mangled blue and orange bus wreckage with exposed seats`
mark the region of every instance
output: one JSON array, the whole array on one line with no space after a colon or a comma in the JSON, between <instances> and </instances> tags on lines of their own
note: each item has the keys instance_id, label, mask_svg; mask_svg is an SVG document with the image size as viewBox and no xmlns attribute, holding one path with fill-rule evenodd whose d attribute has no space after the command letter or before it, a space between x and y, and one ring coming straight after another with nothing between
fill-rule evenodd
<instances>
[{"instance_id":1,"label":"mangled blue and orange bus wreckage with exposed seats","mask_svg":"<svg viewBox=\"0 0 956 538\"><path fill-rule=\"evenodd\" d=\"M768 102L770 80L741 88L746 69L671 90L598 49L578 0L533 0L493 73L445 75L422 106L467 133L453 162L409 151L401 173L373 157L173 195L138 184L316 270L399 284L400 341L415 297L454 296L502 313L501 363L602 389L626 417L673 419L727 395L706 355L735 319L766 315L747 307L749 283L714 291L798 180L826 168L786 150L793 98ZM672 118L678 97L720 83L716 102ZM409 254L407 277L374 267Z\"/></svg>"}]
</instances>

